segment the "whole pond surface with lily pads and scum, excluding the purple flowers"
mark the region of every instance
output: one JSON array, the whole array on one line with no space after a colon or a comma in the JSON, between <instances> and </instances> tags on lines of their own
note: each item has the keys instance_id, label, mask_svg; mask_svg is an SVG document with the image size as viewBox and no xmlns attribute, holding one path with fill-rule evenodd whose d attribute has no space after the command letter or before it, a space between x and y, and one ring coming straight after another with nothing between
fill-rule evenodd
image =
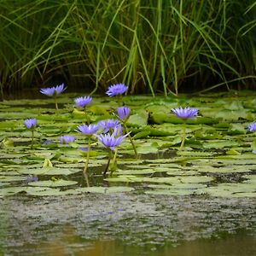
<instances>
[{"instance_id":1,"label":"whole pond surface with lily pads and scum, excluding the purple flowers","mask_svg":"<svg viewBox=\"0 0 256 256\"><path fill-rule=\"evenodd\" d=\"M0 255L256 254L256 94L127 96L128 129L113 175L108 151L92 139L89 184L82 172L88 120L113 119L114 99L73 108L76 94L0 103ZM200 114L186 125L180 105ZM23 125L37 118L32 133ZM62 135L75 142L60 144Z\"/></svg>"}]
</instances>

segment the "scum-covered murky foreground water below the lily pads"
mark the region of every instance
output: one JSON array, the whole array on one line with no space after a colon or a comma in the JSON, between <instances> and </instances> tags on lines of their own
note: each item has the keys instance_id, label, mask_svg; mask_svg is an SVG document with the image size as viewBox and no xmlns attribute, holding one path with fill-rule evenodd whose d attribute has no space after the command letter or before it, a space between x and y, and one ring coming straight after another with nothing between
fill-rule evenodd
<instances>
[{"instance_id":1,"label":"scum-covered murky foreground water below the lily pads","mask_svg":"<svg viewBox=\"0 0 256 256\"><path fill-rule=\"evenodd\" d=\"M0 255L251 256L255 207L246 198L19 195L0 201Z\"/></svg>"}]
</instances>

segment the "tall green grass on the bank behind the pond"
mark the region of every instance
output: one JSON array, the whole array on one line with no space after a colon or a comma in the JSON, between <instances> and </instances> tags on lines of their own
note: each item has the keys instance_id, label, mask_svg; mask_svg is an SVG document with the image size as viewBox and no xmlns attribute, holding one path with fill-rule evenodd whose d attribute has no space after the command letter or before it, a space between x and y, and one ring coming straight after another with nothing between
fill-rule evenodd
<instances>
[{"instance_id":1,"label":"tall green grass on the bank behind the pond","mask_svg":"<svg viewBox=\"0 0 256 256\"><path fill-rule=\"evenodd\" d=\"M255 77L254 1L2 0L0 8L2 90L61 80L91 92L124 82L129 93L177 95Z\"/></svg>"}]
</instances>

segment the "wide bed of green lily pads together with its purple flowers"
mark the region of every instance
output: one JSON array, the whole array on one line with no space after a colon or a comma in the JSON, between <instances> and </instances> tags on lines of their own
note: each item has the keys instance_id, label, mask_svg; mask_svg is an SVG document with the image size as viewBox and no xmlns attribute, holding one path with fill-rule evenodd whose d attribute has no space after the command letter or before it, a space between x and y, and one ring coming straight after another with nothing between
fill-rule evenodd
<instances>
[{"instance_id":1,"label":"wide bed of green lily pads together with its purple flowers","mask_svg":"<svg viewBox=\"0 0 256 256\"><path fill-rule=\"evenodd\" d=\"M20 191L29 195L130 191L138 183L150 194L255 196L251 148L254 153L256 125L248 123L255 119L253 99L235 101L230 96L230 104L222 109L226 100L213 103L210 97L122 98L127 89L113 95L116 91L110 89L117 84L113 85L108 97L93 99L58 96L64 84L42 89L54 97L55 111L49 107L51 99L3 102L0 196ZM200 106L200 112L177 108L183 105ZM26 119L29 131L17 119ZM32 150L27 147L30 143ZM85 178L79 174L83 169ZM19 180L21 186L14 187Z\"/></svg>"}]
</instances>

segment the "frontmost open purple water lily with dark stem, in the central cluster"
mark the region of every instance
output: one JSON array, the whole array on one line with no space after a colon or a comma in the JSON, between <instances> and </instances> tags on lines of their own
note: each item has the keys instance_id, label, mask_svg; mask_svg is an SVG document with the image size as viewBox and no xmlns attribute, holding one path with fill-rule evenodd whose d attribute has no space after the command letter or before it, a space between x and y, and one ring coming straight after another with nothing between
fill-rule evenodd
<instances>
[{"instance_id":1,"label":"frontmost open purple water lily with dark stem, in the central cluster","mask_svg":"<svg viewBox=\"0 0 256 256\"><path fill-rule=\"evenodd\" d=\"M108 172L108 166L109 166L110 160L112 158L113 151L114 151L114 155L113 155L113 166L111 169L111 173L115 170L117 147L121 143L123 143L124 138L129 135L129 133L126 133L124 136L119 135L120 134L119 128L120 128L120 126L117 125L116 127L114 127L113 132L108 132L108 133L104 133L104 134L100 134L100 135L95 134L95 137L98 139L98 141L100 143L102 143L106 148L109 149L108 164L106 166L105 171L103 172L103 176L105 176L106 173Z\"/></svg>"}]
</instances>

